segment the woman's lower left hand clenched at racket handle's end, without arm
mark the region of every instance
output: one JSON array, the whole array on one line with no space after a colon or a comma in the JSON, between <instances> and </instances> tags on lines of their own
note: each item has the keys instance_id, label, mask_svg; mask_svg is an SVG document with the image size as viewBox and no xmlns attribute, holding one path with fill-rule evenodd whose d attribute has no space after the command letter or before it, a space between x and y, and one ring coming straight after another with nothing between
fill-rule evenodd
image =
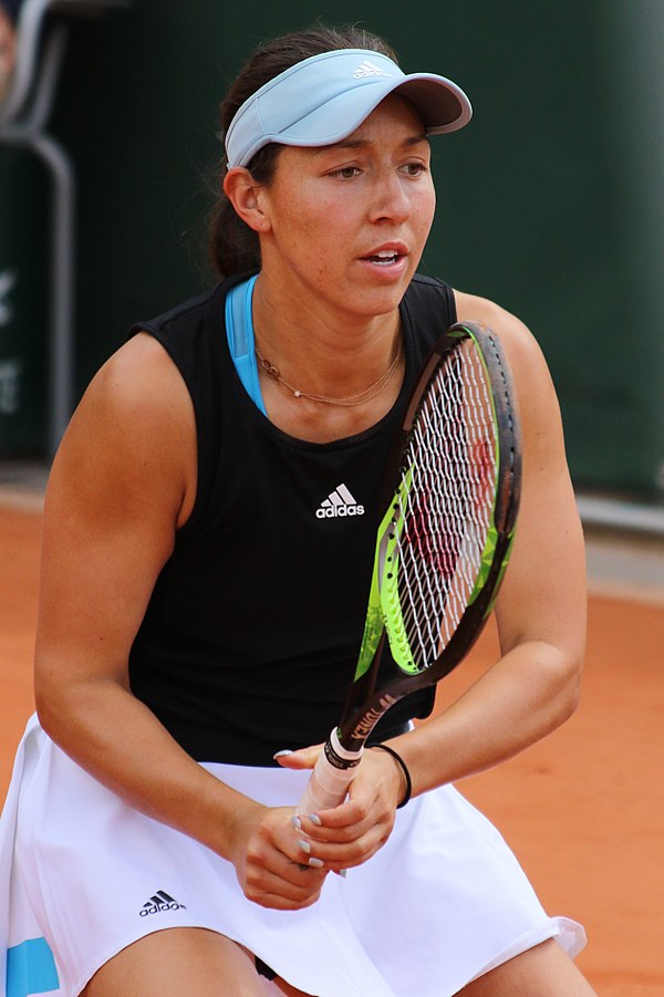
<instances>
[{"instance_id":1,"label":"woman's lower left hand clenched at racket handle's end, without arm","mask_svg":"<svg viewBox=\"0 0 664 997\"><path fill-rule=\"evenodd\" d=\"M329 870L299 845L292 807L248 801L237 812L230 861L248 900L263 907L299 911L319 899Z\"/></svg>"}]
</instances>

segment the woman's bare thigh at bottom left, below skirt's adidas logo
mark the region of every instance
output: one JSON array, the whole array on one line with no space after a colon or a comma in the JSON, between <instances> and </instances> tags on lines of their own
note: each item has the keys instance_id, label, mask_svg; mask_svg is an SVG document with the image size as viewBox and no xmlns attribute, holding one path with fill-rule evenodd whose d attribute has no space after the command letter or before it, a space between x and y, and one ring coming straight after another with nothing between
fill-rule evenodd
<instances>
[{"instance_id":1,"label":"woman's bare thigh at bottom left, below skirt's adidas logo","mask_svg":"<svg viewBox=\"0 0 664 997\"><path fill-rule=\"evenodd\" d=\"M123 948L81 997L264 997L252 956L205 928L168 928Z\"/></svg>"}]
</instances>

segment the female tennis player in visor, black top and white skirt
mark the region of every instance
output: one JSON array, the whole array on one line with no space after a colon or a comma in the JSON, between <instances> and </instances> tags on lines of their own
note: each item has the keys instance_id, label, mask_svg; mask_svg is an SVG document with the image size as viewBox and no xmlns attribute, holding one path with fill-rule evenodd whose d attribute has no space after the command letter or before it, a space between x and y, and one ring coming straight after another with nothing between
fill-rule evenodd
<instances>
[{"instance_id":1,"label":"female tennis player in visor, black top and white skirt","mask_svg":"<svg viewBox=\"0 0 664 997\"><path fill-rule=\"evenodd\" d=\"M542 356L498 305L416 274L428 136L469 117L355 29L266 44L234 83L224 281L133 330L49 482L9 997L38 969L60 997L592 994L582 927L452 785L570 716L584 647ZM367 749L345 802L295 817L353 676L400 414L457 319L495 330L521 411L501 656L427 723L428 692L388 710L374 741L396 754Z\"/></svg>"}]
</instances>

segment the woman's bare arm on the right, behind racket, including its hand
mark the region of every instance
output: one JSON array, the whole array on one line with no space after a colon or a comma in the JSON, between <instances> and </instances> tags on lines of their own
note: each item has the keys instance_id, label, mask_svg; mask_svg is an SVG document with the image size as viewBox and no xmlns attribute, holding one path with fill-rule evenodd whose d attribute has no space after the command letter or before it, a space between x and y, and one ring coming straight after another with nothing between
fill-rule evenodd
<instances>
[{"instance_id":1,"label":"woman's bare arm on the right, behind racket, including its hand","mask_svg":"<svg viewBox=\"0 0 664 997\"><path fill-rule=\"evenodd\" d=\"M500 336L512 368L522 424L521 508L496 615L501 657L439 716L390 744L418 795L498 765L544 737L574 710L585 645L583 538L564 456L556 393L528 330L498 305L457 295L460 320ZM310 766L319 748L280 759ZM366 861L388 838L403 777L393 759L367 751L349 802L323 825L304 820L314 853L333 868Z\"/></svg>"}]
</instances>

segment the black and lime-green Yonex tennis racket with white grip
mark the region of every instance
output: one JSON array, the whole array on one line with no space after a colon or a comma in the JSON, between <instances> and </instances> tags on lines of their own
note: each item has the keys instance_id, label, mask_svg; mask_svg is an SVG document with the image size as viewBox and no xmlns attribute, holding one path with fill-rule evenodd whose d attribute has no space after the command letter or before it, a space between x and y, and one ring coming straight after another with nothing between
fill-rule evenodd
<instances>
[{"instance_id":1,"label":"black and lime-green Yonex tennis racket with white grip","mask_svg":"<svg viewBox=\"0 0 664 997\"><path fill-rule=\"evenodd\" d=\"M520 465L501 346L485 325L452 325L394 442L355 677L298 813L342 802L381 717L452 672L481 633L509 561Z\"/></svg>"}]
</instances>

